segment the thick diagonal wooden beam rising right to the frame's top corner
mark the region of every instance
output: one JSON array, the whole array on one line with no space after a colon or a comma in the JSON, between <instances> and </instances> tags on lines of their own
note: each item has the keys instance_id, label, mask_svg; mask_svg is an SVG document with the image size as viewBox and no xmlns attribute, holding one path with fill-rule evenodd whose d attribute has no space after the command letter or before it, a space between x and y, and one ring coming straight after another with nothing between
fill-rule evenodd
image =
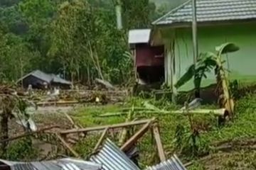
<instances>
[{"instance_id":1,"label":"thick diagonal wooden beam rising right to the frame's top corner","mask_svg":"<svg viewBox=\"0 0 256 170\"><path fill-rule=\"evenodd\" d=\"M149 126L151 125L151 123L152 120L146 123L146 125L144 125L138 132L136 132L131 138L129 138L129 140L127 140L127 142L122 145L121 150L127 151L128 149L130 149L132 145L134 145L134 143L136 143L139 138L141 138L149 130Z\"/></svg>"}]
</instances>

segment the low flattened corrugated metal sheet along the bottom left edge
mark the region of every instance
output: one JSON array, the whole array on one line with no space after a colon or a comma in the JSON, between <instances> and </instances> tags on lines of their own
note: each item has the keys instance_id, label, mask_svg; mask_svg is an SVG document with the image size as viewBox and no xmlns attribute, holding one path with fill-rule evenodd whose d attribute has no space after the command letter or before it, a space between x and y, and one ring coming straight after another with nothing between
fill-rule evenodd
<instances>
[{"instance_id":1,"label":"low flattened corrugated metal sheet along the bottom left edge","mask_svg":"<svg viewBox=\"0 0 256 170\"><path fill-rule=\"evenodd\" d=\"M0 162L11 167L11 170L100 170L100 164L78 159L58 159L48 162Z\"/></svg>"}]
</instances>

